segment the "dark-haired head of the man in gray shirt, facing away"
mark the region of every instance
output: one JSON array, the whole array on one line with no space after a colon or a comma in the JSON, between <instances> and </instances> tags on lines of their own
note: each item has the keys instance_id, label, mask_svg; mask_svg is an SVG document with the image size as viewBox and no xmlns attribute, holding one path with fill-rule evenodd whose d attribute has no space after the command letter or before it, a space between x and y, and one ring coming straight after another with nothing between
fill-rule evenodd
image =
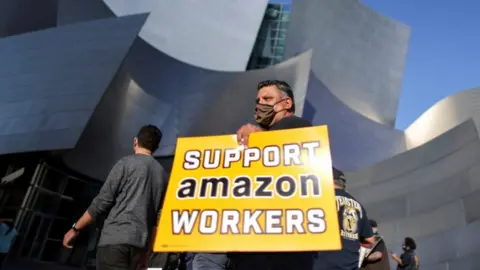
<instances>
[{"instance_id":1,"label":"dark-haired head of the man in gray shirt, facing away","mask_svg":"<svg viewBox=\"0 0 480 270\"><path fill-rule=\"evenodd\" d=\"M136 154L151 155L158 149L162 140L162 132L154 125L147 125L140 128L138 134L133 138L133 150Z\"/></svg>"}]
</instances>

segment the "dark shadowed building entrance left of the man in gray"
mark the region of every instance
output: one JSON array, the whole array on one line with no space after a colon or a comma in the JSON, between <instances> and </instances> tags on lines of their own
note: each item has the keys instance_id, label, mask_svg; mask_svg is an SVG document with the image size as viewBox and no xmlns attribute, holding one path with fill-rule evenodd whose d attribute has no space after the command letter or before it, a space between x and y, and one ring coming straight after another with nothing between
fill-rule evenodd
<instances>
[{"instance_id":1,"label":"dark shadowed building entrance left of the man in gray","mask_svg":"<svg viewBox=\"0 0 480 270\"><path fill-rule=\"evenodd\" d=\"M73 249L64 248L62 241L98 193L101 183L73 176L68 169L48 159L33 168L17 168L22 169L23 175L3 189L0 199L2 213L15 217L18 231L5 263L23 267L27 267L25 264L81 268L94 265L98 226L82 232ZM7 190L16 190L17 195L11 196L12 192Z\"/></svg>"}]
</instances>

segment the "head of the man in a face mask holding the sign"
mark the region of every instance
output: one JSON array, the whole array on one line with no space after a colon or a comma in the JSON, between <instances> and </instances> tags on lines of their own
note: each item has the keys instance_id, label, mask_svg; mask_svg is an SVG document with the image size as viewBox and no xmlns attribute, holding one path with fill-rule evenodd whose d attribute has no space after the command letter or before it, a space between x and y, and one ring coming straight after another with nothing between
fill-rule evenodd
<instances>
[{"instance_id":1,"label":"head of the man in a face mask holding the sign","mask_svg":"<svg viewBox=\"0 0 480 270\"><path fill-rule=\"evenodd\" d=\"M257 86L255 121L262 128L268 128L282 118L295 113L293 90L284 81L270 80Z\"/></svg>"}]
</instances>

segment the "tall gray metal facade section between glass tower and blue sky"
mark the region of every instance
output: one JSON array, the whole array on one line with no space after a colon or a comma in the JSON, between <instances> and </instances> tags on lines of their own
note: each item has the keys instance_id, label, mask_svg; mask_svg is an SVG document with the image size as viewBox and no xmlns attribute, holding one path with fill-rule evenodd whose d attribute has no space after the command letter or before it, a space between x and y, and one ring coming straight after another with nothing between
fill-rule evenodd
<instances>
[{"instance_id":1,"label":"tall gray metal facade section between glass tower and blue sky","mask_svg":"<svg viewBox=\"0 0 480 270\"><path fill-rule=\"evenodd\" d=\"M286 57L313 48L315 78L361 115L393 127L410 28L360 1L293 1Z\"/></svg>"}]
</instances>

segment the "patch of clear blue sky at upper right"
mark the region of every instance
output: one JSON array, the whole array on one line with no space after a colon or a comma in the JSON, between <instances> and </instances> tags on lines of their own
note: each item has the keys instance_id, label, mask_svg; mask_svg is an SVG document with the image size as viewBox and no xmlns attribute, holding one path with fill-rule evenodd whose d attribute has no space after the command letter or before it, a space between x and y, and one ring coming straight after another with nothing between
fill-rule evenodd
<instances>
[{"instance_id":1,"label":"patch of clear blue sky at upper right","mask_svg":"<svg viewBox=\"0 0 480 270\"><path fill-rule=\"evenodd\" d=\"M442 98L480 87L480 0L361 1L411 27L398 128Z\"/></svg>"}]
</instances>

